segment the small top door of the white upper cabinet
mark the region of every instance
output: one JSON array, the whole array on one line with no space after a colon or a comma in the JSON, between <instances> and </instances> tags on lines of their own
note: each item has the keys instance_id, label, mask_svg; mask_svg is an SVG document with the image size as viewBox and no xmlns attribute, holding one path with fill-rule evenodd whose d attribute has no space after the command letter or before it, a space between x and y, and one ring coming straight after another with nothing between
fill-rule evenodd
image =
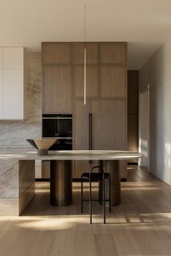
<instances>
[{"instance_id":1,"label":"small top door of the white upper cabinet","mask_svg":"<svg viewBox=\"0 0 171 256\"><path fill-rule=\"evenodd\" d=\"M3 68L23 68L23 47L4 47Z\"/></svg>"}]
</instances>

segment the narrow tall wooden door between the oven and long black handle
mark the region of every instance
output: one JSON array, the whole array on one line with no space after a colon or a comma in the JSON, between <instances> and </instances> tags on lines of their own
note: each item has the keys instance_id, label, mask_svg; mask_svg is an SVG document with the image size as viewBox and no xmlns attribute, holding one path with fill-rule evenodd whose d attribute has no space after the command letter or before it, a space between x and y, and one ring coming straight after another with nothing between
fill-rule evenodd
<instances>
[{"instance_id":1,"label":"narrow tall wooden door between the oven and long black handle","mask_svg":"<svg viewBox=\"0 0 171 256\"><path fill-rule=\"evenodd\" d=\"M73 115L73 148L75 150L89 149L89 113L90 100L86 105L83 99L74 100ZM73 161L73 178L80 178L83 172L89 170L89 161Z\"/></svg>"}]
</instances>

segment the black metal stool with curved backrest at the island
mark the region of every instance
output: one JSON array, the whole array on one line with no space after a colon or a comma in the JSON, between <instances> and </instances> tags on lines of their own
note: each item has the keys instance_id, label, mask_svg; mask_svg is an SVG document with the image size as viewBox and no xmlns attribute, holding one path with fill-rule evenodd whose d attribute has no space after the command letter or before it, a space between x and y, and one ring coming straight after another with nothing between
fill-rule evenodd
<instances>
[{"instance_id":1,"label":"black metal stool with curved backrest at the island","mask_svg":"<svg viewBox=\"0 0 171 256\"><path fill-rule=\"evenodd\" d=\"M101 172L92 173L94 169L98 168ZM105 180L109 179L109 199L105 197ZM90 183L90 191L89 191L89 200L83 199L83 179L87 179ZM99 201L99 199L92 199L91 197L91 182L92 181L102 181L103 182L103 202L104 202L104 224L106 223L106 201L109 202L109 212L111 212L111 182L110 182L110 174L104 173L103 168L100 166L94 166L91 168L89 173L83 173L81 176L81 212L83 212L83 202L89 201L90 203L90 223L92 223L92 201Z\"/></svg>"}]
</instances>

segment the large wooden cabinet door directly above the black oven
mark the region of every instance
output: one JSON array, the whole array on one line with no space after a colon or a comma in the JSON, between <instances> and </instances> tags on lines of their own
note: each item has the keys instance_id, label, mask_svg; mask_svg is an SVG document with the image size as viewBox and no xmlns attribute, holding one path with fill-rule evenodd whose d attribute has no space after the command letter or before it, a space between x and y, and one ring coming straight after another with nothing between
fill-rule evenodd
<instances>
[{"instance_id":1,"label":"large wooden cabinet door directly above the black oven","mask_svg":"<svg viewBox=\"0 0 171 256\"><path fill-rule=\"evenodd\" d=\"M43 67L43 113L72 112L72 67Z\"/></svg>"}]
</instances>

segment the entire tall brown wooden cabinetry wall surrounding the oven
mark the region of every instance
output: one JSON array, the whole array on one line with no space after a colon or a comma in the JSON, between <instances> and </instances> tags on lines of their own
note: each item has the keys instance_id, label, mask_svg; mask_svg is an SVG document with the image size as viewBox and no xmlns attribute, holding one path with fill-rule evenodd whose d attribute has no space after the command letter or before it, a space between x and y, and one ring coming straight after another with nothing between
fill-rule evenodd
<instances>
[{"instance_id":1,"label":"entire tall brown wooden cabinetry wall surrounding the oven","mask_svg":"<svg viewBox=\"0 0 171 256\"><path fill-rule=\"evenodd\" d=\"M84 46L43 43L43 112L73 116L73 149L89 149L89 114L93 149L127 149L127 44L86 43L86 105L83 104ZM89 169L73 163L73 178ZM126 165L121 177L127 178Z\"/></svg>"}]
</instances>

